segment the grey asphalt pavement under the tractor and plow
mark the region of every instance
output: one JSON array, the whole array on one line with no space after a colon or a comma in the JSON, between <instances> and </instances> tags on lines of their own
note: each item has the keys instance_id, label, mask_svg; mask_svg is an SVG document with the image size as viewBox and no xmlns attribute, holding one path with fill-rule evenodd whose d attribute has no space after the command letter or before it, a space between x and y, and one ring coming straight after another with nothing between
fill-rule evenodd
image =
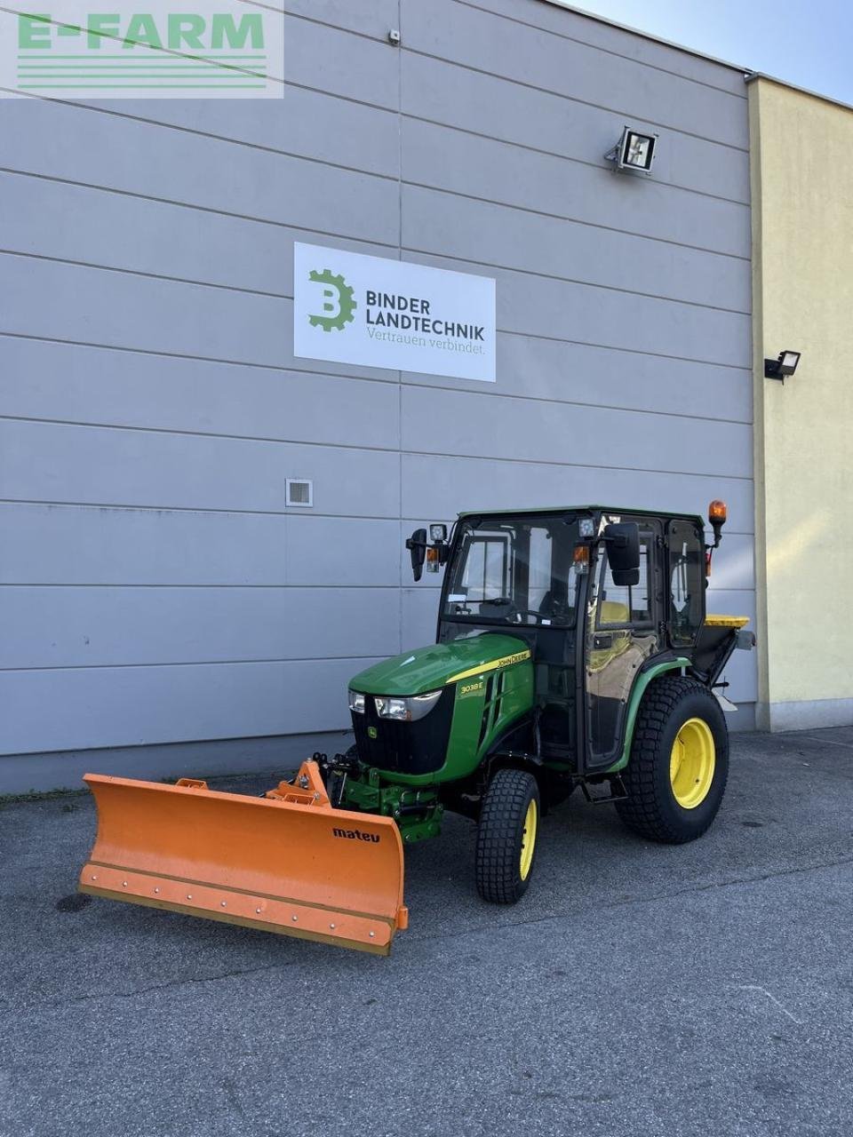
<instances>
[{"instance_id":1,"label":"grey asphalt pavement under the tractor and plow","mask_svg":"<svg viewBox=\"0 0 853 1137\"><path fill-rule=\"evenodd\" d=\"M703 839L575 795L513 907L450 818L380 958L76 897L91 802L2 805L0 1134L850 1137L852 806L853 728L736 735Z\"/></svg>"}]
</instances>

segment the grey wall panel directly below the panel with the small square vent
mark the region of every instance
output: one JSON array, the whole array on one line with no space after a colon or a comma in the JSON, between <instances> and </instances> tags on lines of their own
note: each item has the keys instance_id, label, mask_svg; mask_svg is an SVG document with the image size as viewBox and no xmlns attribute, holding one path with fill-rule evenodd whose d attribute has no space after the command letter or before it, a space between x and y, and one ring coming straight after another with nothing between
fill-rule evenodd
<instances>
[{"instance_id":1,"label":"grey wall panel directly below the panel with the small square vent","mask_svg":"<svg viewBox=\"0 0 853 1137\"><path fill-rule=\"evenodd\" d=\"M0 505L0 583L383 587L398 521Z\"/></svg>"}]
</instances>

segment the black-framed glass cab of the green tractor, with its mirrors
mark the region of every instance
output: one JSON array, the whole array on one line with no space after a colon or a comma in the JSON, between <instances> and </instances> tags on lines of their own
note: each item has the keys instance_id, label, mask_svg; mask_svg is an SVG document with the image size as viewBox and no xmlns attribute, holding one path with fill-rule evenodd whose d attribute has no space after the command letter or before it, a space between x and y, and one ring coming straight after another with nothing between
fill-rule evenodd
<instances>
[{"instance_id":1,"label":"black-framed glass cab of the green tractor, with its mirrors","mask_svg":"<svg viewBox=\"0 0 853 1137\"><path fill-rule=\"evenodd\" d=\"M465 513L449 541L441 528L431 526L431 545L424 531L409 541L416 574L422 534L428 571L446 565L438 642L507 632L522 641L533 665L524 748L577 774L613 766L637 678L695 662L705 621L702 518L581 506ZM704 661L715 671L709 678L729 640L724 658Z\"/></svg>"}]
</instances>

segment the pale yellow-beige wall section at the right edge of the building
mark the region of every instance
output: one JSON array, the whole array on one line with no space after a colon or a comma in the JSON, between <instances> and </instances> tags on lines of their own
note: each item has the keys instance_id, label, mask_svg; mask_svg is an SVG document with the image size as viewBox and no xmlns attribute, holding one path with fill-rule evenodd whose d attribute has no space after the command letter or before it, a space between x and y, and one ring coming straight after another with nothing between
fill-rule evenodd
<instances>
[{"instance_id":1,"label":"pale yellow-beige wall section at the right edge of the building","mask_svg":"<svg viewBox=\"0 0 853 1137\"><path fill-rule=\"evenodd\" d=\"M748 90L759 724L853 723L853 110Z\"/></svg>"}]
</instances>

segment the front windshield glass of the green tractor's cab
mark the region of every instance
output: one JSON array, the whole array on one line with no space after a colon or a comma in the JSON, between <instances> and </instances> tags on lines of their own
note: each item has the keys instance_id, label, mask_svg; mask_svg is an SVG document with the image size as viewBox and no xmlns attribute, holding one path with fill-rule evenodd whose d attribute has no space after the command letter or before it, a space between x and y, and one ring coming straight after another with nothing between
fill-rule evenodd
<instances>
[{"instance_id":1,"label":"front windshield glass of the green tractor's cab","mask_svg":"<svg viewBox=\"0 0 853 1137\"><path fill-rule=\"evenodd\" d=\"M574 624L577 540L577 522L562 517L463 521L442 616L472 623Z\"/></svg>"}]
</instances>

